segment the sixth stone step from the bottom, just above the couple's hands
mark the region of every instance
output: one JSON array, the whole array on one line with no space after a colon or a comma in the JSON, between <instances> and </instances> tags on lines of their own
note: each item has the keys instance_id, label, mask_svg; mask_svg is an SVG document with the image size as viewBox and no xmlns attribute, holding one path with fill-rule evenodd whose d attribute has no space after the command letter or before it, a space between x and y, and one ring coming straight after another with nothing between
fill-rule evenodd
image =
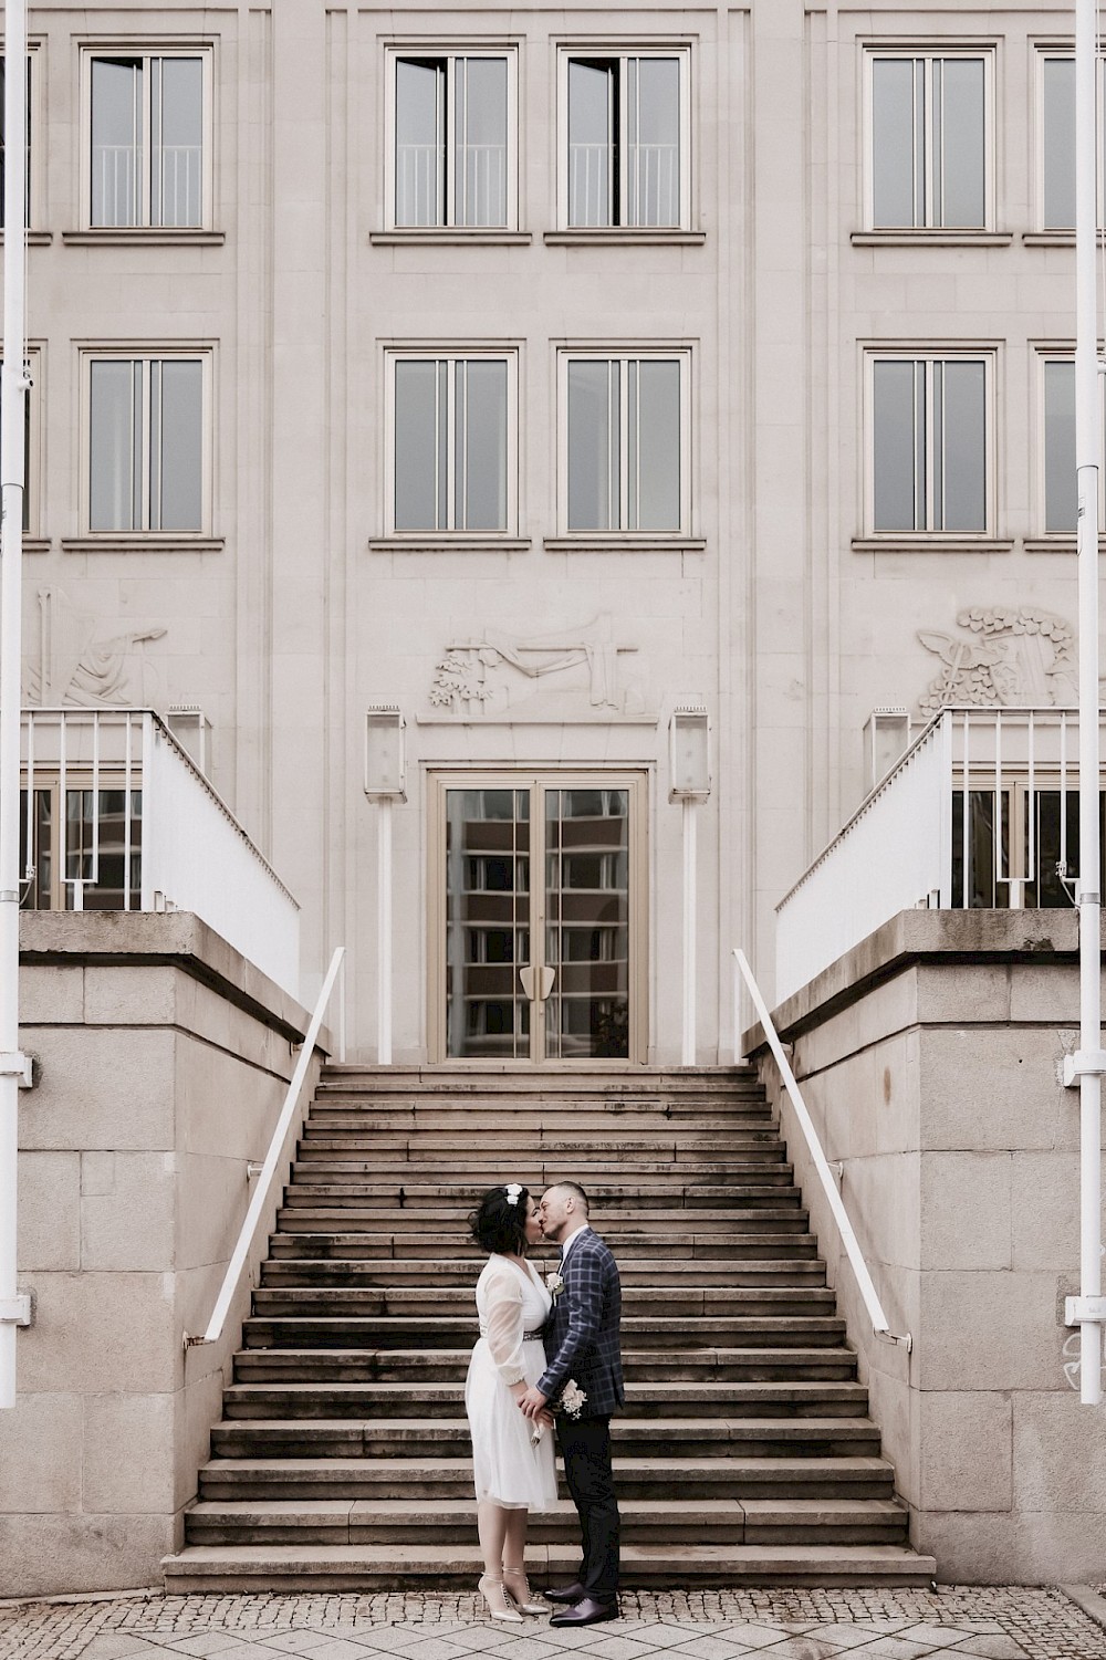
<instances>
[{"instance_id":1,"label":"sixth stone step from the bottom, just above the couple's hands","mask_svg":"<svg viewBox=\"0 0 1106 1660\"><path fill-rule=\"evenodd\" d=\"M472 1345L460 1348L246 1348L234 1356L236 1383L463 1383ZM790 1348L707 1348L696 1353L634 1348L626 1383L849 1383L857 1356L834 1343Z\"/></svg>"}]
</instances>

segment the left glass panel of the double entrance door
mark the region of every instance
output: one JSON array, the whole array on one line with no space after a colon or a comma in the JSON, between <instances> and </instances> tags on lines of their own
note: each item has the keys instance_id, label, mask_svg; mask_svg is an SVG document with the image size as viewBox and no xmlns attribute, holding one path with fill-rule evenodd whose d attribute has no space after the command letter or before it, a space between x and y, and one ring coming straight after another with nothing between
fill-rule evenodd
<instances>
[{"instance_id":1,"label":"left glass panel of the double entrance door","mask_svg":"<svg viewBox=\"0 0 1106 1660\"><path fill-rule=\"evenodd\" d=\"M530 1057L530 792L445 792L445 1052Z\"/></svg>"}]
</instances>

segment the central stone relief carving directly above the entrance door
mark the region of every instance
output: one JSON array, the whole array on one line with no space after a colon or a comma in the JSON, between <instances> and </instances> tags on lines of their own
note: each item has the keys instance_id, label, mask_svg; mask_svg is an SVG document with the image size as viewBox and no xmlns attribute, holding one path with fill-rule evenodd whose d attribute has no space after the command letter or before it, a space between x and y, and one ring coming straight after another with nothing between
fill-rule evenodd
<instances>
[{"instance_id":1,"label":"central stone relief carving directly above the entrance door","mask_svg":"<svg viewBox=\"0 0 1106 1660\"><path fill-rule=\"evenodd\" d=\"M518 637L505 629L453 641L435 666L430 706L450 714L478 715L526 706L565 714L565 701L585 702L595 719L609 712L639 714L644 699L636 684L623 684L619 657L636 652L614 639L609 613L581 627ZM558 684L540 682L558 676Z\"/></svg>"}]
</instances>

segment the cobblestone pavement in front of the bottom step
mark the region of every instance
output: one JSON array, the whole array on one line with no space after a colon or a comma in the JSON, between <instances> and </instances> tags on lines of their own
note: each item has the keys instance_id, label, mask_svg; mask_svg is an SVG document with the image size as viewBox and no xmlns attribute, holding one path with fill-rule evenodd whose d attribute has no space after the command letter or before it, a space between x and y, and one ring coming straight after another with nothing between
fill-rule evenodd
<instances>
[{"instance_id":1,"label":"cobblestone pavement in front of the bottom step","mask_svg":"<svg viewBox=\"0 0 1106 1660\"><path fill-rule=\"evenodd\" d=\"M1106 1660L1106 1614L1060 1587L628 1594L555 1630L482 1618L475 1595L166 1597L0 1604L0 1660Z\"/></svg>"}]
</instances>

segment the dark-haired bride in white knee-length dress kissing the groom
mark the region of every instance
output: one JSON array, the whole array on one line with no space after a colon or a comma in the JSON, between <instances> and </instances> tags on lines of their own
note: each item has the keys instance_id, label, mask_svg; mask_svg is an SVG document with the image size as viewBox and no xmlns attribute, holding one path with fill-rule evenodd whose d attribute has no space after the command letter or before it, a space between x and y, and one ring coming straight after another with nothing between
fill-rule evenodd
<instances>
[{"instance_id":1,"label":"dark-haired bride in white knee-length dress kissing the groom","mask_svg":"<svg viewBox=\"0 0 1106 1660\"><path fill-rule=\"evenodd\" d=\"M541 1227L525 1187L493 1187L468 1225L477 1245L488 1252L477 1280L480 1341L465 1379L483 1555L480 1592L493 1620L520 1622L520 1609L548 1612L531 1597L525 1550L526 1512L556 1504L551 1419L536 1426L516 1403L545 1371L541 1326L551 1301L538 1270L526 1262L526 1247L541 1238Z\"/></svg>"}]
</instances>

